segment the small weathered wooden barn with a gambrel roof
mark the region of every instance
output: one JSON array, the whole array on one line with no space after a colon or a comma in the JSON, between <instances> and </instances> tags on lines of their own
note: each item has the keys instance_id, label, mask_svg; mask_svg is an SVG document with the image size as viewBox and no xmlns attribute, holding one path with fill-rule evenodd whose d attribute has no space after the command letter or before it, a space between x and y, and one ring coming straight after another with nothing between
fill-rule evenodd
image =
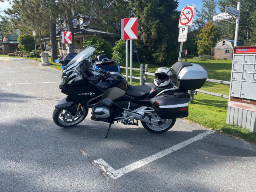
<instances>
[{"instance_id":1,"label":"small weathered wooden barn with a gambrel roof","mask_svg":"<svg viewBox=\"0 0 256 192\"><path fill-rule=\"evenodd\" d=\"M242 43L237 42L237 46L242 46ZM234 40L222 39L218 41L214 47L215 58L232 59L234 52Z\"/></svg>"}]
</instances>

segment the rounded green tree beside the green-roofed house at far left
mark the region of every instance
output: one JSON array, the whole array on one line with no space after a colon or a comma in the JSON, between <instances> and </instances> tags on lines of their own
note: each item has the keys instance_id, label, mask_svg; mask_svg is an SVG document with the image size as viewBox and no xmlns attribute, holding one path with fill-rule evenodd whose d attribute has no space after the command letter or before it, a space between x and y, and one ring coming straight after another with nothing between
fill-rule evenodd
<instances>
[{"instance_id":1,"label":"rounded green tree beside the green-roofed house at far left","mask_svg":"<svg viewBox=\"0 0 256 192\"><path fill-rule=\"evenodd\" d=\"M20 50L31 52L35 48L34 37L32 35L20 35L17 41L19 42L18 48Z\"/></svg>"}]
</instances>

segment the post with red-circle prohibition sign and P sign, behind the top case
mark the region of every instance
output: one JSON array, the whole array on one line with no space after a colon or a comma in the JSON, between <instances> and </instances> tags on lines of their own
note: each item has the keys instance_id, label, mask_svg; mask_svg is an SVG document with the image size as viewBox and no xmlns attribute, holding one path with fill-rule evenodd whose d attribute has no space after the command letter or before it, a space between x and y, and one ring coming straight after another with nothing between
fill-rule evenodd
<instances>
[{"instance_id":1,"label":"post with red-circle prohibition sign and P sign, behind the top case","mask_svg":"<svg viewBox=\"0 0 256 192\"><path fill-rule=\"evenodd\" d=\"M180 61L183 42L187 40L188 26L192 26L194 22L195 9L196 5L188 5L181 10L180 21L178 24L178 27L180 28L178 42L181 42L178 61Z\"/></svg>"}]
</instances>

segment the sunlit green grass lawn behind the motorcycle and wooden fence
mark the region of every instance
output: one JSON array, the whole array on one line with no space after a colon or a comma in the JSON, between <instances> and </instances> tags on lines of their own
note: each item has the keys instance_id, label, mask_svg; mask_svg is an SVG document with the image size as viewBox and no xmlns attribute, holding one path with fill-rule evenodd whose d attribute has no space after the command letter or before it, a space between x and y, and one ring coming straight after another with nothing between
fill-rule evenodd
<instances>
[{"instance_id":1,"label":"sunlit green grass lawn behind the motorcycle and wooden fence","mask_svg":"<svg viewBox=\"0 0 256 192\"><path fill-rule=\"evenodd\" d=\"M0 55L2 56L2 55ZM35 60L35 58L29 58ZM41 59L38 58L41 62ZM50 62L50 61L49 61ZM197 63L205 66L208 69L208 78L230 81L232 60L206 60L198 61L188 59L188 62ZM61 64L51 62L50 67L62 70ZM171 67L166 66L166 67ZM138 62L133 62L134 68L140 68ZM148 72L154 73L159 66L149 64ZM145 68L145 64L144 64ZM125 69L121 69L121 73L125 74ZM132 76L140 76L140 71L133 70ZM130 70L128 70L130 76ZM153 76L148 76L148 82L153 81ZM128 81L130 78L128 78ZM140 84L139 80L132 80L132 85ZM202 90L229 95L229 85L206 82L201 88ZM189 116L184 118L189 122L194 122L205 128L216 130L220 133L225 133L235 138L242 138L248 142L256 144L256 133L252 133L245 128L236 125L226 124L228 109L228 99L211 96L208 94L199 93L194 96L194 101L189 104Z\"/></svg>"}]
</instances>

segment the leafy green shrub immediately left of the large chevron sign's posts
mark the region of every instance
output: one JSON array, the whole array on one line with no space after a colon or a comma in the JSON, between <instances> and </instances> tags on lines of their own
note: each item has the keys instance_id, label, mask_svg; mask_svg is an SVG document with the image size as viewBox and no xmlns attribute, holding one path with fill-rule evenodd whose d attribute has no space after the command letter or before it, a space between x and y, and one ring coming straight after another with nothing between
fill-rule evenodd
<instances>
[{"instance_id":1,"label":"leafy green shrub immediately left of the large chevron sign's posts","mask_svg":"<svg viewBox=\"0 0 256 192\"><path fill-rule=\"evenodd\" d=\"M112 56L120 66L125 66L125 41L120 39L113 48Z\"/></svg>"}]
</instances>

